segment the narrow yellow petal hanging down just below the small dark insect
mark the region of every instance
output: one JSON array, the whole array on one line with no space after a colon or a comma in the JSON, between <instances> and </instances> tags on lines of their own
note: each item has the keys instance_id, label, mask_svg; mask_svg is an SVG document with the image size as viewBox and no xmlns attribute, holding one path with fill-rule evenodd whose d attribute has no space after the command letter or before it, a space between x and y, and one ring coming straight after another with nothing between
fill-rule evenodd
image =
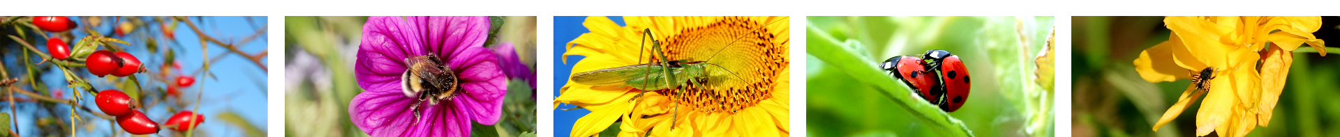
<instances>
[{"instance_id":1,"label":"narrow yellow petal hanging down just below the small dark insect","mask_svg":"<svg viewBox=\"0 0 1340 137\"><path fill-rule=\"evenodd\" d=\"M1201 109L1195 112L1195 136L1210 134L1233 117L1233 105L1238 104L1238 98L1233 92L1231 78L1230 74L1210 80L1210 93L1206 93Z\"/></svg>"}]
</instances>

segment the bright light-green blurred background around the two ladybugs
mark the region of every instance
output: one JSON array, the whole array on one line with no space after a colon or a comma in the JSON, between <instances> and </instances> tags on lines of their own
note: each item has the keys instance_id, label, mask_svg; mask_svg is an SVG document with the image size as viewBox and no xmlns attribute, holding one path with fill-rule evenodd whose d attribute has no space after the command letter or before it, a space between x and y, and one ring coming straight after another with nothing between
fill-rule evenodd
<instances>
[{"instance_id":1,"label":"bright light-green blurred background around the two ladybugs","mask_svg":"<svg viewBox=\"0 0 1340 137\"><path fill-rule=\"evenodd\" d=\"M807 136L935 137L927 124L902 109L874 86L828 64L874 64L894 56L918 56L927 49L958 55L972 72L972 96L953 113L974 136L1055 136L1052 84L1038 84L1034 59L1055 27L1052 16L847 17L809 16L807 27L844 41L868 60L824 63L805 56ZM812 45L808 43L807 45ZM875 76L887 77L887 76ZM978 78L981 77L981 78ZM1049 80L1047 74L1041 80ZM896 82L902 84L902 82ZM910 90L894 90L910 92Z\"/></svg>"}]
</instances>

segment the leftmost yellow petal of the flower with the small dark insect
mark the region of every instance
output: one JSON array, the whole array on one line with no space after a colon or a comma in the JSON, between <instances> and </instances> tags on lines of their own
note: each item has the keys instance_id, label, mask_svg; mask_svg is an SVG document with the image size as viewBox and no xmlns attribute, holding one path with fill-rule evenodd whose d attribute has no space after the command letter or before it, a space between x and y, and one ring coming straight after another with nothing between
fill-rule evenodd
<instances>
[{"instance_id":1,"label":"leftmost yellow petal of the flower with the small dark insect","mask_svg":"<svg viewBox=\"0 0 1340 137\"><path fill-rule=\"evenodd\" d=\"M1181 47L1179 41L1163 41L1140 52L1135 59L1135 72L1140 73L1144 81L1162 82L1178 78L1190 78L1190 72L1177 65L1172 59L1174 47Z\"/></svg>"}]
</instances>

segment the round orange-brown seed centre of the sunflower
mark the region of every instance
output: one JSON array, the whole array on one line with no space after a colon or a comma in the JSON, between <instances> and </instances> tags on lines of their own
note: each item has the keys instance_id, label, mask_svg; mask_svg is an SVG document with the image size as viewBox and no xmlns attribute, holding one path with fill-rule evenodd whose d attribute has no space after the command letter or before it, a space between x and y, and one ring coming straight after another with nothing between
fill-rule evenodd
<instances>
[{"instance_id":1,"label":"round orange-brown seed centre of the sunflower","mask_svg":"<svg viewBox=\"0 0 1340 137\"><path fill-rule=\"evenodd\" d=\"M673 94L679 104L706 113L734 113L770 98L776 76L791 64L784 53L788 49L783 47L789 40L779 41L769 33L773 29L762 28L764 24L768 23L725 17L709 25L682 29L679 35L667 36L662 40L667 59L706 61L725 69L705 67L705 76L695 78L702 85L685 82L687 90L682 90L682 94ZM717 53L718 51L721 53Z\"/></svg>"}]
</instances>

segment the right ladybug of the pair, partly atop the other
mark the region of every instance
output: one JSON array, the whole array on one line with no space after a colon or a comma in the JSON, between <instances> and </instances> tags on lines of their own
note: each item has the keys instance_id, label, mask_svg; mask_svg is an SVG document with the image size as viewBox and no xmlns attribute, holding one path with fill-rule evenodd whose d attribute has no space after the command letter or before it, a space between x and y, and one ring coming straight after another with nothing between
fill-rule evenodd
<instances>
[{"instance_id":1,"label":"right ladybug of the pair, partly atop the other","mask_svg":"<svg viewBox=\"0 0 1340 137\"><path fill-rule=\"evenodd\" d=\"M939 72L945 80L943 90L945 98L939 102L939 108L945 112L958 110L967 101L969 84L967 67L958 56L949 53L949 51L931 49L922 55L922 59L931 60L926 63L927 72Z\"/></svg>"}]
</instances>

